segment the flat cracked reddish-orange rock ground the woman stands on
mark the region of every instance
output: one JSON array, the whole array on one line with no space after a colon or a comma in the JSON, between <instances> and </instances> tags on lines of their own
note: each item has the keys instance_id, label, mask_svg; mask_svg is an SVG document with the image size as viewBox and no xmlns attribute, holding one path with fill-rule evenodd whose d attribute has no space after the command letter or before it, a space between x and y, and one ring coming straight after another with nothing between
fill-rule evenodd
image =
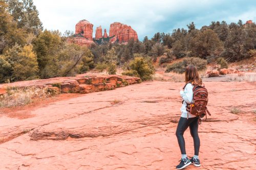
<instances>
[{"instance_id":1,"label":"flat cracked reddish-orange rock ground the woman stands on","mask_svg":"<svg viewBox=\"0 0 256 170\"><path fill-rule=\"evenodd\" d=\"M256 83L205 85L212 115L199 127L202 166L186 169L254 169ZM153 81L79 94L15 117L2 109L0 169L175 169L180 86ZM234 107L241 112L230 113ZM193 156L189 131L184 136Z\"/></svg>"}]
</instances>

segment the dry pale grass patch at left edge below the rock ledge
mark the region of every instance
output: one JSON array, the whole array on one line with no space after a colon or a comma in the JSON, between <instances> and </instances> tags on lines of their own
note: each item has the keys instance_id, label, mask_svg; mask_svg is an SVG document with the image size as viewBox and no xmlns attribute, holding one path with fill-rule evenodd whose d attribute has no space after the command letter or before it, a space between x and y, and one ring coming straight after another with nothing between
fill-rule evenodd
<instances>
[{"instance_id":1,"label":"dry pale grass patch at left edge below the rock ledge","mask_svg":"<svg viewBox=\"0 0 256 170\"><path fill-rule=\"evenodd\" d=\"M56 94L58 91L47 87L8 87L7 93L0 96L0 107L23 106L35 98L43 99Z\"/></svg>"}]
</instances>

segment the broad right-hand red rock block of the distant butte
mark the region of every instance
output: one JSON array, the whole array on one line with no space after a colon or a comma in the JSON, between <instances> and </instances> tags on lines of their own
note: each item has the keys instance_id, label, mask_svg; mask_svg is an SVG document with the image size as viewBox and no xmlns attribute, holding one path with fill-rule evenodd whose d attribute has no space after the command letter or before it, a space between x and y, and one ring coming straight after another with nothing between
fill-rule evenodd
<instances>
[{"instance_id":1,"label":"broad right-hand red rock block of the distant butte","mask_svg":"<svg viewBox=\"0 0 256 170\"><path fill-rule=\"evenodd\" d=\"M132 29L131 26L124 25L120 22L114 22L110 25L110 37L112 42L118 39L119 42L127 42L130 39L137 40L138 35L135 30Z\"/></svg>"}]
</instances>

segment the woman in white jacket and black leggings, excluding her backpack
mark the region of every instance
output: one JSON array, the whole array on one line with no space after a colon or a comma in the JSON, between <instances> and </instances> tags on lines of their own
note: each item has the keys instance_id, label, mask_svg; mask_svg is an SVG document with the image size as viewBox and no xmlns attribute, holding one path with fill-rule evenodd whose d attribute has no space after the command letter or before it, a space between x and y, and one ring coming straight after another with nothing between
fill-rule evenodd
<instances>
[{"instance_id":1,"label":"woman in white jacket and black leggings, excluding her backpack","mask_svg":"<svg viewBox=\"0 0 256 170\"><path fill-rule=\"evenodd\" d=\"M199 77L197 68L194 65L188 65L185 69L185 82L186 86L180 88L180 96L183 99L183 104L181 107L181 117L176 130L176 136L178 139L180 151L181 151L181 161L180 164L176 166L177 169L183 169L186 166L193 163L195 166L200 166L199 161L199 148L200 139L198 136L198 119L199 117L190 114L186 110L187 104L190 104L193 100L193 87L196 85L202 85L202 80ZM190 134L194 140L195 155L191 159L187 158L185 150L185 140L183 134L185 130L189 127Z\"/></svg>"}]
</instances>

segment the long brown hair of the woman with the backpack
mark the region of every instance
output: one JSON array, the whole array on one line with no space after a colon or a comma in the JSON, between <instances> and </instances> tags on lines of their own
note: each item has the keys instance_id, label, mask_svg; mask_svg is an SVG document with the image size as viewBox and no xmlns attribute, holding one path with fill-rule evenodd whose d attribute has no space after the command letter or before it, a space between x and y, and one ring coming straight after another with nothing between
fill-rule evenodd
<instances>
[{"instance_id":1,"label":"long brown hair of the woman with the backpack","mask_svg":"<svg viewBox=\"0 0 256 170\"><path fill-rule=\"evenodd\" d=\"M186 83L192 83L193 85L202 85L202 80L200 79L196 66L194 65L186 66L185 81Z\"/></svg>"}]
</instances>

